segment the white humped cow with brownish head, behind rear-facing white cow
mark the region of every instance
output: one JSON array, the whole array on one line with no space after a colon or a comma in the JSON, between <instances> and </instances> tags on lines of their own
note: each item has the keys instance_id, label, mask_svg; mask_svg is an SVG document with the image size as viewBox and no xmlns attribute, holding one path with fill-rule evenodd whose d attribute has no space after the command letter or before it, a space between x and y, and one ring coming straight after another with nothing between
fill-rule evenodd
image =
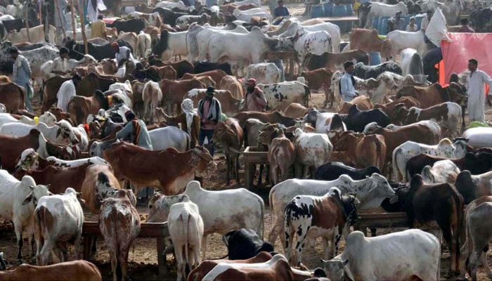
<instances>
[{"instance_id":1,"label":"white humped cow with brownish head, behind rear-facing white cow","mask_svg":"<svg viewBox=\"0 0 492 281\"><path fill-rule=\"evenodd\" d=\"M183 197L198 205L204 224L202 257L207 254L207 236L211 233L226 234L238 228L251 228L263 237L265 205L261 197L244 188L209 191L198 181L190 181L181 195L154 195L148 207L148 222L164 221L171 205L181 202ZM220 204L217 204L220 202Z\"/></svg>"}]
</instances>

